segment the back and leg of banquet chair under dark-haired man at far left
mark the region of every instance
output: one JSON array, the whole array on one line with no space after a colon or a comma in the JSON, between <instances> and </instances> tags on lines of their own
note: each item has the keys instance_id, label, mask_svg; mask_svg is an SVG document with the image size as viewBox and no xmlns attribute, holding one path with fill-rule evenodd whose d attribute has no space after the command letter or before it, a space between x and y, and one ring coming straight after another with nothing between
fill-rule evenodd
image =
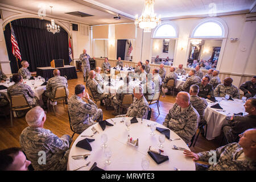
<instances>
[{"instance_id":1,"label":"back and leg of banquet chair under dark-haired man at far left","mask_svg":"<svg viewBox=\"0 0 256 182\"><path fill-rule=\"evenodd\" d=\"M11 127L13 127L13 111L15 111L16 116L18 117L18 111L31 109L32 106L28 104L27 98L24 94L15 94L10 95L10 116L11 116Z\"/></svg>"}]
</instances>

